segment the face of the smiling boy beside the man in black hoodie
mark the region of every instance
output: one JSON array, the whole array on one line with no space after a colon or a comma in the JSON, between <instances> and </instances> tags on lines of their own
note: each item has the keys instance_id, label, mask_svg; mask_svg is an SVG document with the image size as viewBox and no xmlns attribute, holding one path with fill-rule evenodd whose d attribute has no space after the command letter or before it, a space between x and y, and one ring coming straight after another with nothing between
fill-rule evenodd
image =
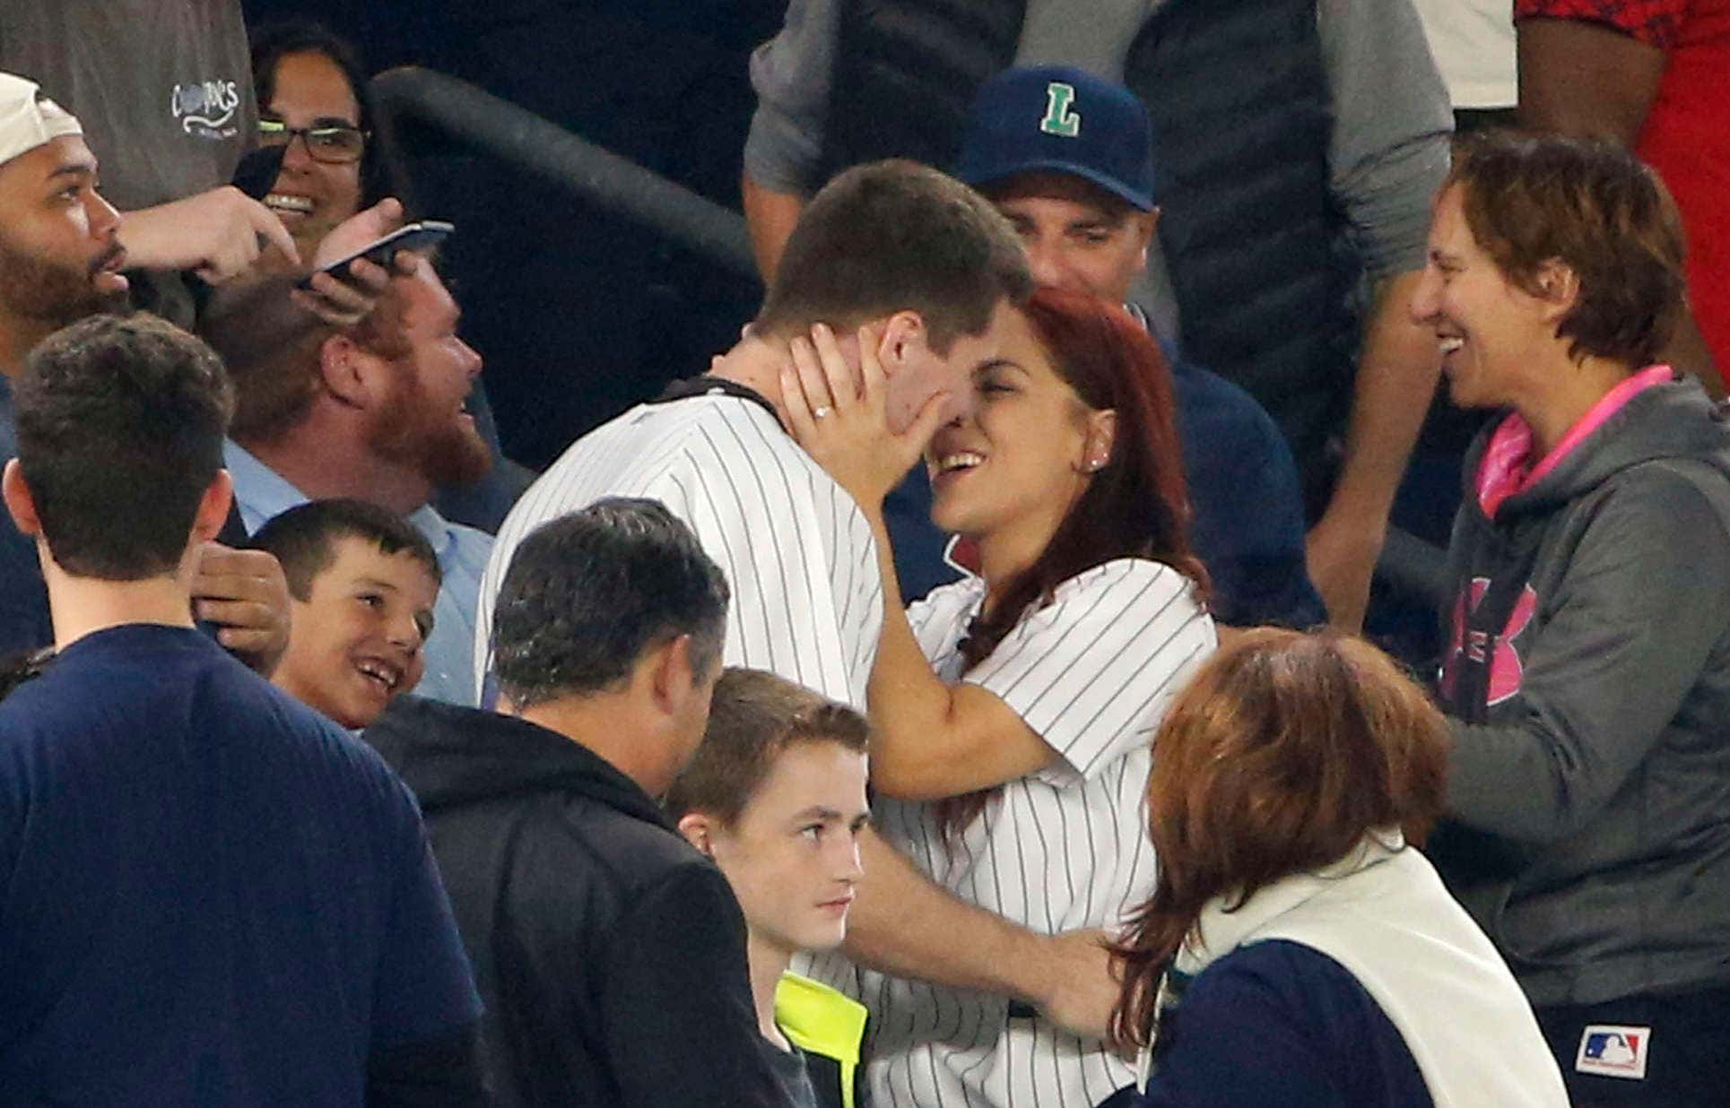
<instances>
[{"instance_id":1,"label":"face of the smiling boy beside the man in black hoodie","mask_svg":"<svg viewBox=\"0 0 1730 1108\"><path fill-rule=\"evenodd\" d=\"M365 728L426 669L438 583L408 551L382 553L358 538L292 603L289 648L272 681L344 728Z\"/></svg>"}]
</instances>

